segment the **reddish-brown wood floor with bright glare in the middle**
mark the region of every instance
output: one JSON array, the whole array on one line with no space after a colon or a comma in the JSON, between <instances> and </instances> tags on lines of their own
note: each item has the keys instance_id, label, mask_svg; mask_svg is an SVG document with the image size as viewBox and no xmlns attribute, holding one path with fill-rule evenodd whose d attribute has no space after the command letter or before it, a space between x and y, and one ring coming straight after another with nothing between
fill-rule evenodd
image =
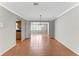
<instances>
[{"instance_id":1,"label":"reddish-brown wood floor with bright glare in the middle","mask_svg":"<svg viewBox=\"0 0 79 59\"><path fill-rule=\"evenodd\" d=\"M18 40L14 48L3 56L77 56L55 39L49 39L46 33L33 33L31 39Z\"/></svg>"}]
</instances>

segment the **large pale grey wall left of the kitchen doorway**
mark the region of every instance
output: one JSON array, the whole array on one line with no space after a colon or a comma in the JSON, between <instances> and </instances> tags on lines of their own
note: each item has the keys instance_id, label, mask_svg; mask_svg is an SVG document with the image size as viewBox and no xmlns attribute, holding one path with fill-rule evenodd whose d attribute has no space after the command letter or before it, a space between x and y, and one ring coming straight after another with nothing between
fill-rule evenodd
<instances>
[{"instance_id":1,"label":"large pale grey wall left of the kitchen doorway","mask_svg":"<svg viewBox=\"0 0 79 59\"><path fill-rule=\"evenodd\" d=\"M16 15L0 7L0 55L16 44Z\"/></svg>"}]
</instances>

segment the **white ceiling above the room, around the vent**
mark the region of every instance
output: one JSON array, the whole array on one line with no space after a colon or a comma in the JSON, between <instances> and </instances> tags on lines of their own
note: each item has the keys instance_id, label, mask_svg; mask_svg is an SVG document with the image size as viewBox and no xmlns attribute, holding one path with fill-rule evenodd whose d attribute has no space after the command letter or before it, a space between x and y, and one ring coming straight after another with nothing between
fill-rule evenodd
<instances>
[{"instance_id":1,"label":"white ceiling above the room, around the vent","mask_svg":"<svg viewBox=\"0 0 79 59\"><path fill-rule=\"evenodd\" d=\"M43 20L52 20L77 3L39 2L37 6L34 6L33 2L2 2L1 4L26 20L39 20L40 15Z\"/></svg>"}]
</instances>

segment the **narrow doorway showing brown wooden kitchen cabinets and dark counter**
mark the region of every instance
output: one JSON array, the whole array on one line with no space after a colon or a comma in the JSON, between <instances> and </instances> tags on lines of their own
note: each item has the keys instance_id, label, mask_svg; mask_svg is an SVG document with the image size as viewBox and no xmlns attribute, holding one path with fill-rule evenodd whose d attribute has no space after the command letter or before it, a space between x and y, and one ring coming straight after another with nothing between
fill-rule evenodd
<instances>
[{"instance_id":1,"label":"narrow doorway showing brown wooden kitchen cabinets and dark counter","mask_svg":"<svg viewBox=\"0 0 79 59\"><path fill-rule=\"evenodd\" d=\"M21 42L21 20L16 20L16 44Z\"/></svg>"}]
</instances>

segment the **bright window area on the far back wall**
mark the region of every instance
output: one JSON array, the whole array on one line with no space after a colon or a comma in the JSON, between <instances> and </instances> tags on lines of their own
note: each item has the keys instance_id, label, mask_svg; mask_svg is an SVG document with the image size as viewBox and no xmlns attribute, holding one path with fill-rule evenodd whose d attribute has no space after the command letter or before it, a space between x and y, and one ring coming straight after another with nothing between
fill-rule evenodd
<instances>
[{"instance_id":1,"label":"bright window area on the far back wall","mask_svg":"<svg viewBox=\"0 0 79 59\"><path fill-rule=\"evenodd\" d=\"M31 33L46 33L48 25L45 22L31 22Z\"/></svg>"}]
</instances>

